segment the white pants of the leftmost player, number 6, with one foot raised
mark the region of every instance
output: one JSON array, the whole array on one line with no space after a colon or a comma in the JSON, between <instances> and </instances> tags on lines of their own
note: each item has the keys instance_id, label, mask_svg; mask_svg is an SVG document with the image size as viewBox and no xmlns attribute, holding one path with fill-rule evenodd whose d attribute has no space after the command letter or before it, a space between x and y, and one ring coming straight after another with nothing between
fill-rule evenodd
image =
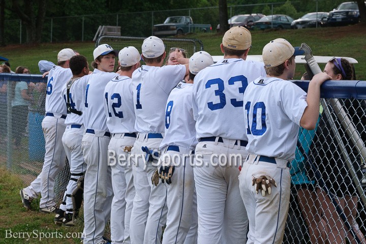
<instances>
[{"instance_id":1,"label":"white pants of the leftmost player, number 6, with one foot raised","mask_svg":"<svg viewBox=\"0 0 366 244\"><path fill-rule=\"evenodd\" d=\"M45 116L42 120L42 130L45 138L45 157L41 173L25 188L26 194L37 198L41 194L40 208L56 205L54 185L55 178L66 163L66 154L62 145L65 132L65 118L61 114Z\"/></svg>"}]
</instances>

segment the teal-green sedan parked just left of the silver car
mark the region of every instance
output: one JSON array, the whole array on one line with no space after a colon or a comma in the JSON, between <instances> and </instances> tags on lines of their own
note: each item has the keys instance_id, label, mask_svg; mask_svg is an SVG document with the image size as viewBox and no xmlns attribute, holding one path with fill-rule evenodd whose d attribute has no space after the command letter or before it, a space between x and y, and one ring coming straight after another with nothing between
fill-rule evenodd
<instances>
[{"instance_id":1,"label":"teal-green sedan parked just left of the silver car","mask_svg":"<svg viewBox=\"0 0 366 244\"><path fill-rule=\"evenodd\" d=\"M252 25L252 29L289 29L293 20L293 18L284 14L267 15L260 20L255 21Z\"/></svg>"}]
</instances>

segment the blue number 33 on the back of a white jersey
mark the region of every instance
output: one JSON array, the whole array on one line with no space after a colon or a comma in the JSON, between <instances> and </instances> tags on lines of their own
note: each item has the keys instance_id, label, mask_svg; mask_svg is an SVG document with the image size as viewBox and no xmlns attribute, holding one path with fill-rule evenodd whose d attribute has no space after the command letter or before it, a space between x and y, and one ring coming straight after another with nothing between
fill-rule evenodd
<instances>
[{"instance_id":1,"label":"blue number 33 on the back of a white jersey","mask_svg":"<svg viewBox=\"0 0 366 244\"><path fill-rule=\"evenodd\" d=\"M238 75L238 76L231 77L228 80L228 84L229 85L233 85L237 81L240 81L241 82L241 87L239 87L239 89L238 89L239 94L244 94L244 91L245 91L245 89L248 86L248 79L247 79L247 77L245 77L243 75ZM224 90L225 90L224 81L222 79L220 79L220 78L208 80L206 82L205 88L207 89L207 88L211 87L211 85L214 85L214 84L217 84L218 85L218 89L215 90L215 95L216 96L219 96L220 103L215 103L214 104L213 102L208 102L207 103L207 106L212 111L217 110L217 109L222 109L226 105L226 95L224 93ZM230 99L230 103L234 107L242 107L243 106L243 101L237 101L236 98Z\"/></svg>"}]
</instances>

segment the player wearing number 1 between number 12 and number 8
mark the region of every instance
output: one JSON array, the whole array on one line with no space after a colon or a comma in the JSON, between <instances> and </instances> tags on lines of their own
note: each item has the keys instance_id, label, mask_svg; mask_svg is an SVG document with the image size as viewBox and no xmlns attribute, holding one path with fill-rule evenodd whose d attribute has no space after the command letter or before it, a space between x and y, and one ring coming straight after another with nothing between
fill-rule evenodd
<instances>
[{"instance_id":1,"label":"player wearing number 1 between number 12 and number 8","mask_svg":"<svg viewBox=\"0 0 366 244\"><path fill-rule=\"evenodd\" d=\"M164 184L157 187L151 185L151 176L158 161L153 151L159 148L164 136L168 95L188 74L188 64L161 67L165 55L165 46L160 38L146 38L142 44L142 58L146 65L132 74L135 130L138 135L131 151L135 156L133 176L136 195L131 214L130 236L131 242L138 244L161 242L166 218L166 187ZM182 57L179 49L176 49L175 57ZM150 150L155 158L149 155ZM149 158L154 159L154 162Z\"/></svg>"}]
</instances>

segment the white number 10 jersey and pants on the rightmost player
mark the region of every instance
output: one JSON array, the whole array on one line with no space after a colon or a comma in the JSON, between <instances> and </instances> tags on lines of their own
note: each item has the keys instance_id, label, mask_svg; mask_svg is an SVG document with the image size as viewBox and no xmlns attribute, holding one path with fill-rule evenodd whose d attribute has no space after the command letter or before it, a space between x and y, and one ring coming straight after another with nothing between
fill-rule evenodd
<instances>
[{"instance_id":1,"label":"white number 10 jersey and pants on the rightmost player","mask_svg":"<svg viewBox=\"0 0 366 244\"><path fill-rule=\"evenodd\" d=\"M289 161L295 156L299 124L308 106L306 93L290 81L259 77L244 93L249 157L239 175L249 218L247 243L282 243L290 201ZM252 177L276 180L271 194L257 194Z\"/></svg>"}]
</instances>

